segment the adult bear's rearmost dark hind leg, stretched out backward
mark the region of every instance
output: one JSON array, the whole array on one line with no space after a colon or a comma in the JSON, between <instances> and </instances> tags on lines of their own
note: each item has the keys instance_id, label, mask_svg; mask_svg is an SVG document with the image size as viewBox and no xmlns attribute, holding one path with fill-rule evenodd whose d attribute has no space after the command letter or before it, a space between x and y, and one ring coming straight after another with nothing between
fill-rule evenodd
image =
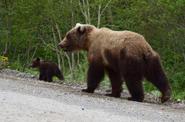
<instances>
[{"instance_id":1,"label":"adult bear's rearmost dark hind leg, stretched out backward","mask_svg":"<svg viewBox=\"0 0 185 122\"><path fill-rule=\"evenodd\" d=\"M161 102L168 101L171 96L171 87L160 62L160 56L155 53L145 57L145 61L146 79L154 84L162 93Z\"/></svg>"}]
</instances>

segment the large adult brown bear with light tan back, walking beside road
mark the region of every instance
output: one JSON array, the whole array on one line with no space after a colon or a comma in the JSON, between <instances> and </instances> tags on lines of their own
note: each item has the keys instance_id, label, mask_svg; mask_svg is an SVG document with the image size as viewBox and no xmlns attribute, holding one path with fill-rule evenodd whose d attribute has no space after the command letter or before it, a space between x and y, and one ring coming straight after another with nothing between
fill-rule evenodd
<instances>
[{"instance_id":1,"label":"large adult brown bear with light tan back, walking beside road","mask_svg":"<svg viewBox=\"0 0 185 122\"><path fill-rule=\"evenodd\" d=\"M78 23L67 32L59 46L64 51L88 52L87 89L83 92L93 93L106 72L112 86L112 93L108 96L120 97L125 81L131 94L129 100L142 102L142 80L146 78L162 93L161 102L170 99L171 87L160 57L138 33Z\"/></svg>"}]
</instances>

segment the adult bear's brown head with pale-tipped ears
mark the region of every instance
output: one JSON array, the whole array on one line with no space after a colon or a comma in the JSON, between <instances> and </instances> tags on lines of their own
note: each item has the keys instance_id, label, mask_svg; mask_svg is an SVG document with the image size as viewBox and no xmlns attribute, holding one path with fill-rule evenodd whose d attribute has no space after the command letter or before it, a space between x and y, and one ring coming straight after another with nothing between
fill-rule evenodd
<instances>
[{"instance_id":1,"label":"adult bear's brown head with pale-tipped ears","mask_svg":"<svg viewBox=\"0 0 185 122\"><path fill-rule=\"evenodd\" d=\"M89 34L94 28L93 25L77 23L74 28L67 32L59 46L64 51L87 50Z\"/></svg>"}]
</instances>

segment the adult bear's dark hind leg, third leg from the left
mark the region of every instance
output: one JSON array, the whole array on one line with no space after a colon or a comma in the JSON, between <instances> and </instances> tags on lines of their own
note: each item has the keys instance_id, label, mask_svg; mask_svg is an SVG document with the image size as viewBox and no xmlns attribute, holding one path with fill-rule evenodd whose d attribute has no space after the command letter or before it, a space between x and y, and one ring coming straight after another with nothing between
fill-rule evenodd
<instances>
[{"instance_id":1,"label":"adult bear's dark hind leg, third leg from the left","mask_svg":"<svg viewBox=\"0 0 185 122\"><path fill-rule=\"evenodd\" d=\"M120 69L126 86L131 94L129 100L142 102L144 100L143 90L143 62L141 58L133 55L121 57Z\"/></svg>"}]
</instances>

